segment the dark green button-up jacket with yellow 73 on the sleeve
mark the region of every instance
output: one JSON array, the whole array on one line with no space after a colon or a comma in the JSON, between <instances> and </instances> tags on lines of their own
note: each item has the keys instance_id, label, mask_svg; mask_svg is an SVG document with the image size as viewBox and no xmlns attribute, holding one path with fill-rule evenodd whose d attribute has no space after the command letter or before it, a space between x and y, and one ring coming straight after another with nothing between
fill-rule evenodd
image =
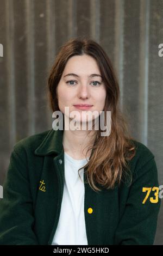
<instances>
[{"instance_id":1,"label":"dark green button-up jacket with yellow 73 on the sleeve","mask_svg":"<svg viewBox=\"0 0 163 256\"><path fill-rule=\"evenodd\" d=\"M52 129L15 144L0 201L0 245L51 245L64 188L62 135L63 131ZM154 242L160 208L158 189L151 191L145 203L147 192L142 190L159 186L157 168L152 152L142 143L134 143L131 186L122 182L114 190L95 192L87 182L84 184L88 245Z\"/></svg>"}]
</instances>

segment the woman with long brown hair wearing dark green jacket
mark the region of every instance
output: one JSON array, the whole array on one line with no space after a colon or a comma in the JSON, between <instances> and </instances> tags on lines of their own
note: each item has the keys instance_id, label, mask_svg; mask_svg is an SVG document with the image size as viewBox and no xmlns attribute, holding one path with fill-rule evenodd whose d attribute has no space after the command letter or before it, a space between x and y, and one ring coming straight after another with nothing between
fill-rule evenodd
<instances>
[{"instance_id":1,"label":"woman with long brown hair wearing dark green jacket","mask_svg":"<svg viewBox=\"0 0 163 256\"><path fill-rule=\"evenodd\" d=\"M48 89L64 129L54 125L15 144L0 202L1 245L152 245L160 209L154 155L129 134L103 48L69 40ZM108 127L108 111L111 129L102 136L94 128L101 113ZM73 129L65 129L68 121Z\"/></svg>"}]
</instances>

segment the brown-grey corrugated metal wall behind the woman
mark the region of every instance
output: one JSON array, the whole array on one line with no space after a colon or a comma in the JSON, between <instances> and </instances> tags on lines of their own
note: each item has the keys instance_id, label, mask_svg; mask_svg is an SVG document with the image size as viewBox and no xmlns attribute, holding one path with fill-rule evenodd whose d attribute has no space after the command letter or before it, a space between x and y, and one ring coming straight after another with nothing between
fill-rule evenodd
<instances>
[{"instance_id":1,"label":"brown-grey corrugated metal wall behind the woman","mask_svg":"<svg viewBox=\"0 0 163 256\"><path fill-rule=\"evenodd\" d=\"M48 70L78 35L95 39L112 60L132 135L153 151L163 185L162 0L0 0L0 184L13 145L51 129ZM162 216L161 209L155 244L163 244Z\"/></svg>"}]
</instances>

